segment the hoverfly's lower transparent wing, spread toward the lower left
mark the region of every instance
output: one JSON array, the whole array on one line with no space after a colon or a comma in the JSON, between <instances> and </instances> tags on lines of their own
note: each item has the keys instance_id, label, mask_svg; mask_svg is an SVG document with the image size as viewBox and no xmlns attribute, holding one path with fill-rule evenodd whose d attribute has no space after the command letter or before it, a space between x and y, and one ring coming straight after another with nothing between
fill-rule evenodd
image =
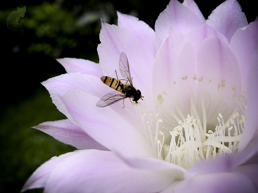
<instances>
[{"instance_id":1,"label":"hoverfly's lower transparent wing, spread toward the lower left","mask_svg":"<svg viewBox=\"0 0 258 193\"><path fill-rule=\"evenodd\" d=\"M118 91L113 91L105 94L96 104L97 107L107 107L110 104L116 103L127 98Z\"/></svg>"}]
</instances>

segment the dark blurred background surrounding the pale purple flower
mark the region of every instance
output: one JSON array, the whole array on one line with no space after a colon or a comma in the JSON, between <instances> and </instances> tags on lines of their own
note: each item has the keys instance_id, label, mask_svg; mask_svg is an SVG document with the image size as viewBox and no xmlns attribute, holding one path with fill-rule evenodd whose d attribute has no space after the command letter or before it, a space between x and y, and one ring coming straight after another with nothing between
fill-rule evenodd
<instances>
[{"instance_id":1,"label":"dark blurred background surrounding the pale purple flower","mask_svg":"<svg viewBox=\"0 0 258 193\"><path fill-rule=\"evenodd\" d=\"M222 2L196 1L205 19ZM238 2L248 22L255 20L256 6L251 1ZM55 58L75 57L98 63L100 18L117 24L118 10L154 28L155 20L168 3L168 0L1 2L0 192L19 192L43 162L75 150L31 128L65 118L40 84L65 73ZM26 13L19 20L23 33L10 31L6 25L9 13L24 5Z\"/></svg>"}]
</instances>

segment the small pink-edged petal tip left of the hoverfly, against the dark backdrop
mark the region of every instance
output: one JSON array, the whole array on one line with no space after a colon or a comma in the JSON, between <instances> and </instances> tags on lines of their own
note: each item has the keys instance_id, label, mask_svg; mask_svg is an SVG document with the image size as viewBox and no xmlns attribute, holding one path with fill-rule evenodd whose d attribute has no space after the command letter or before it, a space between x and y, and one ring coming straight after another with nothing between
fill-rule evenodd
<instances>
[{"instance_id":1,"label":"small pink-edged petal tip left of the hoverfly, against the dark backdrop","mask_svg":"<svg viewBox=\"0 0 258 193\"><path fill-rule=\"evenodd\" d=\"M98 77L103 76L99 64L78 58L60 58L57 61L64 66L67 73L80 72Z\"/></svg>"}]
</instances>

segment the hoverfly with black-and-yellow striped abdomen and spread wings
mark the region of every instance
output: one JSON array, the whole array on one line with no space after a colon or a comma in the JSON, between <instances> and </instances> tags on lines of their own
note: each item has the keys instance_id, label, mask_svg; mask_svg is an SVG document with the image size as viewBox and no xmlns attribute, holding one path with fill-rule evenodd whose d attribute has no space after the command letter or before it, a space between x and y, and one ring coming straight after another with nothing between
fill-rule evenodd
<instances>
[{"instance_id":1,"label":"hoverfly with black-and-yellow striped abdomen and spread wings","mask_svg":"<svg viewBox=\"0 0 258 193\"><path fill-rule=\"evenodd\" d=\"M107 86L110 86L111 88L113 88L116 91L105 94L97 102L97 104L96 104L97 107L107 107L113 103L123 100L123 108L124 108L125 107L125 105L124 105L125 98L130 98L130 101L132 98L132 100L135 101L135 103L138 103L137 101L140 98L141 99L143 98L143 96L141 95L141 91L136 90L133 86L128 59L124 52L122 52L120 54L119 70L120 70L122 77L126 78L126 79L121 79L121 80L126 80L126 83L125 84L121 83L117 77L117 74L116 74L117 79L111 78L108 76L102 76L101 77L102 82L107 84ZM128 81L129 81L129 83L127 83Z\"/></svg>"}]
</instances>

